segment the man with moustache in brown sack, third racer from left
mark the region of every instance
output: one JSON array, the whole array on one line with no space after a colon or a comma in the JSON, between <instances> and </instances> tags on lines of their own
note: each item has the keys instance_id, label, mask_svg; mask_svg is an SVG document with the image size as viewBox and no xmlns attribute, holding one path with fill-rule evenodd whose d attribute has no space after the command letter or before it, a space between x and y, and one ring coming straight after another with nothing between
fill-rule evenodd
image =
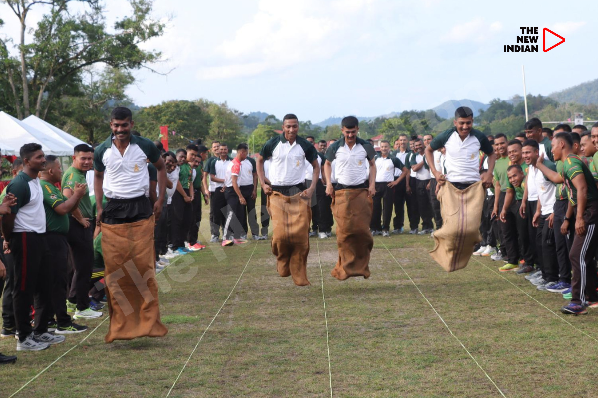
<instances>
[{"instance_id":1,"label":"man with moustache in brown sack, third racer from left","mask_svg":"<svg viewBox=\"0 0 598 398\"><path fill-rule=\"evenodd\" d=\"M370 233L373 196L376 195L376 150L357 137L359 121L347 116L341 122L343 137L328 147L324 170L332 179L335 163L337 183L326 187L332 196L332 214L337 223L338 261L331 274L339 280L370 276L370 253L374 239ZM369 171L367 164L370 165Z\"/></svg>"}]
</instances>

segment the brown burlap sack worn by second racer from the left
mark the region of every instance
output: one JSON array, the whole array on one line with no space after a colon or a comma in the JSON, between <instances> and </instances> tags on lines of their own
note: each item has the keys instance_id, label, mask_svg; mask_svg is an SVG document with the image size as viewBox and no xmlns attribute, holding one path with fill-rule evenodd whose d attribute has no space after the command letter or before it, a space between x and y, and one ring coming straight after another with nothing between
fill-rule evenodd
<instances>
[{"instance_id":1,"label":"brown burlap sack worn by second racer from the left","mask_svg":"<svg viewBox=\"0 0 598 398\"><path fill-rule=\"evenodd\" d=\"M276 256L276 270L280 276L291 276L297 286L309 285L307 256L309 255L309 224L312 209L309 200L297 193L285 196L272 192L267 208L272 230L272 254Z\"/></svg>"}]
</instances>

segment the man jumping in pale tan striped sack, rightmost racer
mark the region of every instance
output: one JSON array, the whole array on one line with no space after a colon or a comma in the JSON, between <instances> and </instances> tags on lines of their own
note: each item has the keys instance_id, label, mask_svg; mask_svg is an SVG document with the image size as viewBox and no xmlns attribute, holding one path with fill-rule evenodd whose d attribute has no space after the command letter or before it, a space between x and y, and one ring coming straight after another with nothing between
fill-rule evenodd
<instances>
[{"instance_id":1,"label":"man jumping in pale tan striped sack, rightmost racer","mask_svg":"<svg viewBox=\"0 0 598 398\"><path fill-rule=\"evenodd\" d=\"M472 128L472 110L459 107L454 117L454 128L438 134L425 149L430 171L440 186L437 197L444 220L443 227L432 234L435 246L430 256L449 272L465 268L474 246L481 242L484 189L492 185L496 162L486 135ZM441 147L446 149L446 175L434 163L434 151ZM488 170L481 176L480 150L488 155Z\"/></svg>"}]
</instances>

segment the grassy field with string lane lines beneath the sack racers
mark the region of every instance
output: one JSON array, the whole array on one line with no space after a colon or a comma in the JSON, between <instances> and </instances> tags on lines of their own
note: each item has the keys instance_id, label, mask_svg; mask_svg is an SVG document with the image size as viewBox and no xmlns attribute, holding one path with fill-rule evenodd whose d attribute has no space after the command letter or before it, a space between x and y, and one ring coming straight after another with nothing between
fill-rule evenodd
<instances>
[{"instance_id":1,"label":"grassy field with string lane lines beneath the sack racers","mask_svg":"<svg viewBox=\"0 0 598 398\"><path fill-rule=\"evenodd\" d=\"M166 337L108 345L108 320L87 321L2 366L0 396L598 396L596 310L565 317L487 258L446 273L429 236L376 237L371 277L344 282L334 238L311 242L306 287L277 276L269 242L184 256L158 278Z\"/></svg>"}]
</instances>

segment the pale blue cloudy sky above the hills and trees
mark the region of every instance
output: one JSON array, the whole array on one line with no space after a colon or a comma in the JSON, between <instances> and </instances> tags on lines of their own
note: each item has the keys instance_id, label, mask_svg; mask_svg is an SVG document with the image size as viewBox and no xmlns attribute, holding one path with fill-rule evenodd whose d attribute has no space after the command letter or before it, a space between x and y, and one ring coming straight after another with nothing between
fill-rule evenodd
<instances>
[{"instance_id":1,"label":"pale blue cloudy sky above the hills and trees","mask_svg":"<svg viewBox=\"0 0 598 398\"><path fill-rule=\"evenodd\" d=\"M127 7L106 0L106 20ZM166 33L143 46L169 73L136 71L127 93L139 106L203 97L316 123L523 95L524 64L528 94L547 95L598 78L596 11L586 0L154 0ZM0 18L0 33L18 32L5 5ZM539 53L504 53L524 26L538 27ZM565 43L544 53L544 27Z\"/></svg>"}]
</instances>

